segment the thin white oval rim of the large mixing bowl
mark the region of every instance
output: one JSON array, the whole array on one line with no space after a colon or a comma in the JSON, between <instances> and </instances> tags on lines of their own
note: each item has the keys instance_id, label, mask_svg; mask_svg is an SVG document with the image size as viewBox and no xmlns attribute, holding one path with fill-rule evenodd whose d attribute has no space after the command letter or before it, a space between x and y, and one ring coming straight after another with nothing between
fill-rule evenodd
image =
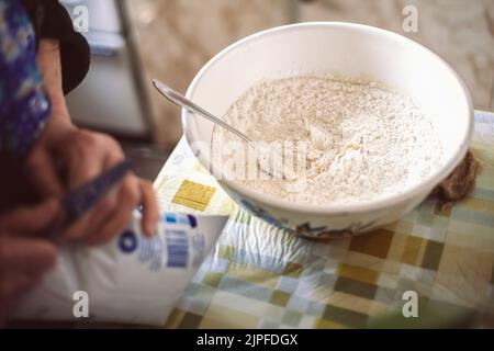
<instances>
[{"instance_id":1,"label":"thin white oval rim of the large mixing bowl","mask_svg":"<svg viewBox=\"0 0 494 351\"><path fill-rule=\"evenodd\" d=\"M260 37L279 34L280 32L291 32L291 31L299 31L304 29L314 29L314 27L343 27L343 29L350 29L350 30L358 30L358 31L368 31L373 32L374 34L385 35L389 37L392 37L394 39L404 41L408 45L413 45L417 47L418 49L425 52L426 54L430 55L433 59L437 60L440 65L442 65L454 78L454 80L459 83L459 87L461 88L463 95L467 100L468 105L468 113L469 113L469 120L468 120L468 127L464 131L462 137L461 137L461 144L458 147L458 149L453 152L452 157L450 157L440 168L433 171L425 180L423 180L419 183L416 183L409 188L407 188L405 191L391 194L385 197L364 201L364 202L352 202L352 203L340 203L340 204L324 204L324 205L315 205L315 204L306 204L306 203L292 203L282 199L277 199L272 195L267 195L254 190L250 190L248 186L243 185L236 181L228 180L226 178L218 180L220 183L225 183L225 185L229 189L232 189L234 192L240 194L242 196L246 199L254 199L259 203L262 203L267 206L271 206L279 210L284 210L287 212L295 212L295 213L303 213L303 214L318 214L318 215L348 215L353 213L362 213L362 212L370 212L370 211L378 211L383 210L388 207L392 207L394 205L397 205L400 203L407 202L412 199L424 196L425 192L430 192L434 186L439 184L444 179L446 179L453 169L460 163L464 155L467 154L467 150L470 146L472 135L473 135L473 118L474 118L474 111L473 111L473 104L472 99L470 95L470 92L461 79L461 77L458 75L458 72L448 64L446 63L440 56L438 56L436 53L430 50L429 48L425 47L424 45L412 41L401 34L374 27L371 25L366 24L359 24L359 23L351 23L351 22L302 22L302 23L295 23L295 24L287 24L281 26L271 27L268 30L263 30L260 32L256 32L251 35L248 35L231 45L222 49L220 53L217 53L215 56L213 56L195 75L193 80L191 81L189 88L187 89L186 97L188 99L191 99L195 88L200 83L202 77L205 75L205 72L216 64L223 56L227 55L232 50L236 50ZM182 123L182 129L186 134L186 138L188 140L189 146L193 140L192 135L190 135L190 128L187 127L188 123L188 116L190 113L182 109L181 111L181 123ZM210 169L215 170L214 165L207 165L209 161L204 160L202 155L198 156L200 162L205 166L206 168L211 167ZM216 172L213 172L216 173ZM222 173L216 173L222 174Z\"/></svg>"}]
</instances>

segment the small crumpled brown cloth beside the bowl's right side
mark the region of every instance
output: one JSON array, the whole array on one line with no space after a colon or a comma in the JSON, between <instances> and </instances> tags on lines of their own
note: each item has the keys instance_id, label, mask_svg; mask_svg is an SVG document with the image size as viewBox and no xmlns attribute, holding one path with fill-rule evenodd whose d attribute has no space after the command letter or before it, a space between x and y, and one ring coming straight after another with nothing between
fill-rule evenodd
<instances>
[{"instance_id":1,"label":"small crumpled brown cloth beside the bowl's right side","mask_svg":"<svg viewBox=\"0 0 494 351\"><path fill-rule=\"evenodd\" d=\"M437 185L431 195L439 195L442 204L461 200L469 195L475 188L476 176L482 171L482 165L469 150L460 165L454 168L439 185Z\"/></svg>"}]
</instances>

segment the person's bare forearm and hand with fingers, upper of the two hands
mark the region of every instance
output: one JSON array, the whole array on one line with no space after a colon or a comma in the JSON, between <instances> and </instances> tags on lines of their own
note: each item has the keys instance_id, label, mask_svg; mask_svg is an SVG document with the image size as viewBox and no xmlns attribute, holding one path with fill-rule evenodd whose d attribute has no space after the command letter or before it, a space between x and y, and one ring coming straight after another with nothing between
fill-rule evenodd
<instances>
[{"instance_id":1,"label":"person's bare forearm and hand with fingers, upper of the two hands","mask_svg":"<svg viewBox=\"0 0 494 351\"><path fill-rule=\"evenodd\" d=\"M37 63L52 102L52 115L27 156L26 167L42 197L60 197L113 167L124 155L113 138L71 124L61 89L56 41L41 41ZM69 228L65 237L101 244L122 229L138 205L143 205L143 231L151 235L158 220L153 186L131 173Z\"/></svg>"}]
</instances>

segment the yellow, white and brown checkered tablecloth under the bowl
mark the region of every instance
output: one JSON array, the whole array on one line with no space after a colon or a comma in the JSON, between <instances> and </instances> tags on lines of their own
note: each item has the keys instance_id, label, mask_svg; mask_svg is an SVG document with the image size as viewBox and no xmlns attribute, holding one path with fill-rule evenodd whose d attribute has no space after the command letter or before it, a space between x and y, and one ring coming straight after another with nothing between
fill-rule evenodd
<instances>
[{"instance_id":1,"label":"yellow, white and brown checkered tablecloth under the bowl","mask_svg":"<svg viewBox=\"0 0 494 351\"><path fill-rule=\"evenodd\" d=\"M231 217L165 327L400 326L405 291L425 308L416 326L473 316L493 327L493 114L475 114L471 149L483 171L467 200L441 210L428 199L370 234L313 241L239 208L182 138L155 181L161 208Z\"/></svg>"}]
</instances>

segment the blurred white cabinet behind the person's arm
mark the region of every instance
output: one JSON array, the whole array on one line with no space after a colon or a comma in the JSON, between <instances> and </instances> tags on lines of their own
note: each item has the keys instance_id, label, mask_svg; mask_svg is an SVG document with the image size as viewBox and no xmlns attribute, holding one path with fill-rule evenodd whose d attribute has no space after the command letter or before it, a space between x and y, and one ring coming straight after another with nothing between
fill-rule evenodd
<instances>
[{"instance_id":1,"label":"blurred white cabinet behind the person's arm","mask_svg":"<svg viewBox=\"0 0 494 351\"><path fill-rule=\"evenodd\" d=\"M69 13L85 5L91 65L82 83L67 97L78 125L130 137L148 137L148 109L141 87L141 69L122 20L123 9L113 0L64 0Z\"/></svg>"}]
</instances>

